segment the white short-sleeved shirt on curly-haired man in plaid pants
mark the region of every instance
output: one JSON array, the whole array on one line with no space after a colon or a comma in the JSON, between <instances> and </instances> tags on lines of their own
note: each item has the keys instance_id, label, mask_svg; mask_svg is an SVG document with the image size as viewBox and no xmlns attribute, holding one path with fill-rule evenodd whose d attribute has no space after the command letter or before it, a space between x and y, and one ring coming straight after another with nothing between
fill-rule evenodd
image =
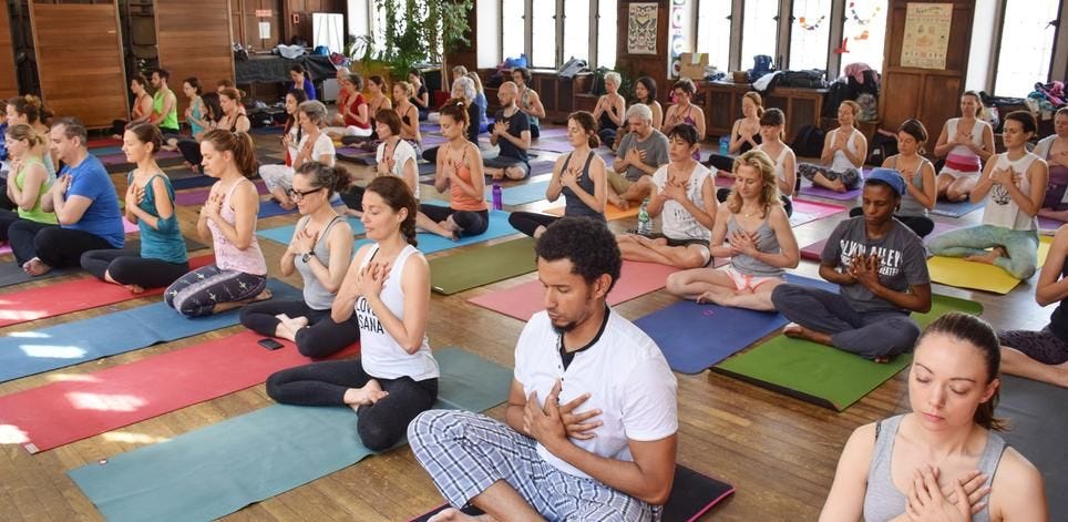
<instances>
[{"instance_id":1,"label":"white short-sleeved shirt on curly-haired man in plaid pants","mask_svg":"<svg viewBox=\"0 0 1068 522\"><path fill-rule=\"evenodd\" d=\"M609 310L599 337L575 354L567 370L559 342L548 315L535 314L515 346L515 380L523 386L524 396L537 392L540 406L556 379L563 379L562 405L589 392L576 411L599 409L603 413L594 420L603 423L593 430L596 437L573 443L599 457L633 462L628 439L654 441L678 431L675 375L656 342L638 327ZM589 478L542 444L537 444L537 453L563 472Z\"/></svg>"}]
</instances>

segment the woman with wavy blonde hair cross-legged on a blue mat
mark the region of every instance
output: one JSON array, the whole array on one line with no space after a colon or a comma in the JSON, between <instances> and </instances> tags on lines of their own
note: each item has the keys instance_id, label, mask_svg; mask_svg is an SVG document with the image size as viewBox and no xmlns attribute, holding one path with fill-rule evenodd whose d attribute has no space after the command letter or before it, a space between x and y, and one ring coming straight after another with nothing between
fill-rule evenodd
<instances>
[{"instance_id":1,"label":"woman with wavy blonde hair cross-legged on a blue mat","mask_svg":"<svg viewBox=\"0 0 1068 522\"><path fill-rule=\"evenodd\" d=\"M773 310L771 290L801 259L779 193L776 166L762 151L735 160L735 187L719 205L711 255L729 257L722 268L695 268L668 276L667 289L685 299Z\"/></svg>"}]
</instances>

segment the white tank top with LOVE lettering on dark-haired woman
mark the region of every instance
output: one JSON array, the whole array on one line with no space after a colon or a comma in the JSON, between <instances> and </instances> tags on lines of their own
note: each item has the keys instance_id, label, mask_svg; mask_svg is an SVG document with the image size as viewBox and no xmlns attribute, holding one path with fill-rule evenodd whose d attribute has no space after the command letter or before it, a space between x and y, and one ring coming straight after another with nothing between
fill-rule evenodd
<instances>
[{"instance_id":1,"label":"white tank top with LOVE lettering on dark-haired woman","mask_svg":"<svg viewBox=\"0 0 1068 522\"><path fill-rule=\"evenodd\" d=\"M367 266L376 254L378 254L377 244L360 263L360 268ZM401 250L386 276L382 293L379 296L390 313L400 320L404 320L404 290L401 288L401 274L404 273L404 263L412 255L422 256L411 245ZM409 354L400 342L397 342L397 339L389 335L363 296L356 299L356 316L360 325L360 359L363 370L369 375L379 379L411 377L415 381L434 379L440 375L438 361L430 352L430 344L425 336L419 350Z\"/></svg>"}]
</instances>

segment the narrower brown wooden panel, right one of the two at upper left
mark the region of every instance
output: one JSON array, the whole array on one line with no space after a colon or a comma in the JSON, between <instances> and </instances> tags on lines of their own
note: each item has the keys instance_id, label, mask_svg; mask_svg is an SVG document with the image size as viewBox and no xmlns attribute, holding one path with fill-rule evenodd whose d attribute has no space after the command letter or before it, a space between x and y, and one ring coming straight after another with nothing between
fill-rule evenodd
<instances>
[{"instance_id":1,"label":"narrower brown wooden panel, right one of the two at upper left","mask_svg":"<svg viewBox=\"0 0 1068 522\"><path fill-rule=\"evenodd\" d=\"M188 100L182 82L196 76L205 90L234 79L229 0L156 0L160 65L171 72L171 89L184 120Z\"/></svg>"}]
</instances>

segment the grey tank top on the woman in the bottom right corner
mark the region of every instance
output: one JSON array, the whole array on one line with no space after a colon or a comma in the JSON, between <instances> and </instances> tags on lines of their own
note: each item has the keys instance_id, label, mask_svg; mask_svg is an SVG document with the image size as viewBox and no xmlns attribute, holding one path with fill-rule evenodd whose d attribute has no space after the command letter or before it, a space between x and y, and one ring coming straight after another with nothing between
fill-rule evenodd
<instances>
[{"instance_id":1,"label":"grey tank top on the woman in the bottom right corner","mask_svg":"<svg viewBox=\"0 0 1068 522\"><path fill-rule=\"evenodd\" d=\"M872 463L867 470L867 493L864 494L864 520L867 522L890 520L905 512L907 499L894 485L891 475L891 459L894 454L894 440L897 439L897 428L905 416L891 417L879 422L875 427L875 449L872 451ZM997 463L1005 451L1005 440L993 431L987 432L986 446L976 468L989 477L987 484L994 483ZM989 504L974 516L972 522L989 522Z\"/></svg>"}]
</instances>

